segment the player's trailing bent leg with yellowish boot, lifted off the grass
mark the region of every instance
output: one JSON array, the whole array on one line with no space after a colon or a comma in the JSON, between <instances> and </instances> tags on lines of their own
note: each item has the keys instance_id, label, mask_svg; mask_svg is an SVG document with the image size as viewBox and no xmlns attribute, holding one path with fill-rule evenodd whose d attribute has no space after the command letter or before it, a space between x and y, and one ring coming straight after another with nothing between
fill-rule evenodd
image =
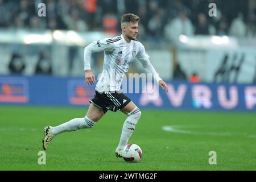
<instances>
[{"instance_id":1,"label":"player's trailing bent leg with yellowish boot, lifted off the grass","mask_svg":"<svg viewBox=\"0 0 256 182\"><path fill-rule=\"evenodd\" d=\"M79 129L91 128L95 123L102 118L105 114L101 107L94 106L90 104L89 109L84 118L71 119L59 126L46 126L44 128L44 138L43 138L43 148L47 150L51 140L56 135L63 133L65 131L76 131Z\"/></svg>"}]
</instances>

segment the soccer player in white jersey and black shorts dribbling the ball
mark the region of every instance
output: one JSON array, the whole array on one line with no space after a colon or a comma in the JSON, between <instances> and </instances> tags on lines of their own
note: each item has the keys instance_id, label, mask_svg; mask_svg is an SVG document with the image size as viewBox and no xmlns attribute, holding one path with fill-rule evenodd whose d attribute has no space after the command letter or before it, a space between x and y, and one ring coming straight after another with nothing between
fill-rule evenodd
<instances>
[{"instance_id":1,"label":"soccer player in white jersey and black shorts dribbling the ball","mask_svg":"<svg viewBox=\"0 0 256 182\"><path fill-rule=\"evenodd\" d=\"M85 47L85 85L88 84L89 86L96 82L95 76L90 69L91 55L93 52L104 51L103 71L96 84L96 94L90 100L90 106L84 118L75 118L59 126L46 126L44 128L44 150L48 149L52 138L57 134L63 133L64 131L91 128L103 117L106 111L111 110L115 112L121 110L127 115L127 119L123 123L121 138L115 149L115 155L122 157L122 150L127 145L141 117L141 110L139 110L129 97L120 92L123 76L128 71L135 57L141 61L147 73L151 73L154 76L158 85L168 92L166 82L158 76L158 73L156 73L148 59L149 56L144 46L137 41L139 32L138 23L139 17L137 15L125 14L121 20L121 36L98 40Z\"/></svg>"}]
</instances>

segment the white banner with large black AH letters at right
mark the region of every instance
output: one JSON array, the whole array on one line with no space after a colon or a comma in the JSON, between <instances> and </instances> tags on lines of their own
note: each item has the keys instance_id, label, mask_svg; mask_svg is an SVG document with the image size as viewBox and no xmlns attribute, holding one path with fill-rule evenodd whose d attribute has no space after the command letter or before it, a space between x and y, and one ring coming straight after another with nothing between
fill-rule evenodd
<instances>
[{"instance_id":1,"label":"white banner with large black AH letters at right","mask_svg":"<svg viewBox=\"0 0 256 182\"><path fill-rule=\"evenodd\" d=\"M209 49L207 82L253 83L256 76L256 48Z\"/></svg>"}]
</instances>

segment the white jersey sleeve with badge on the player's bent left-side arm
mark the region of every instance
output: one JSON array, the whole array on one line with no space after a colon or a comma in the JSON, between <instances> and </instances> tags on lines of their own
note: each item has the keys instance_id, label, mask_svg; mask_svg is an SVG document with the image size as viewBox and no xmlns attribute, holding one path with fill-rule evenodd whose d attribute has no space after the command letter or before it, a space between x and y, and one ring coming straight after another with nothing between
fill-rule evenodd
<instances>
[{"instance_id":1,"label":"white jersey sleeve with badge on the player's bent left-side arm","mask_svg":"<svg viewBox=\"0 0 256 182\"><path fill-rule=\"evenodd\" d=\"M98 41L94 41L84 49L84 70L90 70L90 59L92 57L92 53L101 52L101 51L112 51L114 49L115 44L109 43L108 39L102 39Z\"/></svg>"}]
</instances>

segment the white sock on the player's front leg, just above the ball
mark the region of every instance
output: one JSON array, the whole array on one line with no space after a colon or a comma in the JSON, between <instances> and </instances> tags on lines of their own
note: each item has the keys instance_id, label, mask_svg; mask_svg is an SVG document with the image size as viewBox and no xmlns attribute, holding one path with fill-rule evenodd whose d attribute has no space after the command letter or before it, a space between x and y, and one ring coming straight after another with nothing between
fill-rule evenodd
<instances>
[{"instance_id":1,"label":"white sock on the player's front leg, just above the ball","mask_svg":"<svg viewBox=\"0 0 256 182\"><path fill-rule=\"evenodd\" d=\"M123 150L123 147L127 145L128 140L133 134L135 126L139 121L139 118L141 117L141 110L139 110L139 108L136 107L134 110L128 113L127 116L128 117L125 120L125 123L123 123L123 130L119 144L117 146L117 150Z\"/></svg>"}]
</instances>

